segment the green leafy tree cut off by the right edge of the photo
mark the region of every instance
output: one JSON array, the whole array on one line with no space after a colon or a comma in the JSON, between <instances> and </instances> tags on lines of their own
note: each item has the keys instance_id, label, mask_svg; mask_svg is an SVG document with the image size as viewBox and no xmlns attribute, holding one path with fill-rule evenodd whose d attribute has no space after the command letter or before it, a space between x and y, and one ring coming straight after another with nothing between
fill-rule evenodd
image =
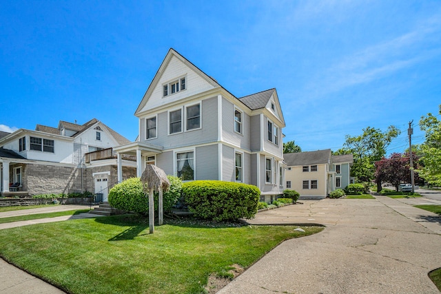
<instances>
[{"instance_id":1,"label":"green leafy tree cut off by the right edge of the photo","mask_svg":"<svg viewBox=\"0 0 441 294\"><path fill-rule=\"evenodd\" d=\"M439 106L441 114L441 105ZM420 119L426 140L420 145L422 167L417 172L432 185L441 185L441 120L429 113Z\"/></svg>"}]
</instances>

